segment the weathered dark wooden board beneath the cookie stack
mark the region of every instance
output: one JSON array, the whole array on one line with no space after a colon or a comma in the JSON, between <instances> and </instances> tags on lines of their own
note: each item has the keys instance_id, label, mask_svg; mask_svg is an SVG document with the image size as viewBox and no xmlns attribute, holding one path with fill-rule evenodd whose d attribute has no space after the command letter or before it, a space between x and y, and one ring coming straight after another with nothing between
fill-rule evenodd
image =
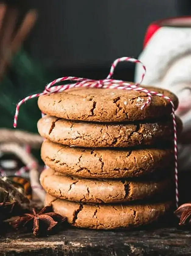
<instances>
[{"instance_id":1,"label":"weathered dark wooden board beneath the cookie stack","mask_svg":"<svg viewBox=\"0 0 191 256\"><path fill-rule=\"evenodd\" d=\"M191 255L191 229L98 231L73 228L44 238L9 233L0 238L2 255Z\"/></svg>"}]
</instances>

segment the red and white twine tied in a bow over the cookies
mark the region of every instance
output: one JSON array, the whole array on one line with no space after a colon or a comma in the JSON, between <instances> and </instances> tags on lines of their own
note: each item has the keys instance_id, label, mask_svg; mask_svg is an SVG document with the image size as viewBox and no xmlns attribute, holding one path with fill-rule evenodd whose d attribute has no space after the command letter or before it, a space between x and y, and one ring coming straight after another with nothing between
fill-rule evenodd
<instances>
[{"instance_id":1,"label":"red and white twine tied in a bow over the cookies","mask_svg":"<svg viewBox=\"0 0 191 256\"><path fill-rule=\"evenodd\" d=\"M132 84L129 84L122 80L111 79L111 76L113 75L115 67L117 66L117 64L119 62L122 62L122 61L130 61L130 62L139 63L142 65L143 73L142 73L141 81L139 83L132 85ZM67 89L74 88L74 87L96 87L96 88L104 88L104 89L112 88L112 89L120 89L120 90L142 91L147 94L148 99L141 106L141 109L143 109L144 107L148 106L151 103L151 100L152 100L151 95L156 95L156 96L165 98L172 105L172 118L173 118L173 126L174 126L174 152L175 152L175 186L176 186L175 192L176 192L176 205L178 207L179 193L178 193L178 166L177 166L177 160L178 160L177 159L177 132L176 132L174 103L171 98L169 98L163 94L157 93L155 91L149 91L143 87L139 87L140 83L142 82L142 80L145 76L145 72L146 72L146 67L139 60L134 59L134 58L129 58L129 57L122 57L122 58L116 59L113 62L113 64L111 65L109 75L104 80L92 80L92 79L86 79L86 78L79 78L79 77L75 77L75 76L65 76L65 77L58 78L58 79L52 81L51 83L49 83L45 87L45 90L42 93L37 93L37 94L27 96L26 98L24 98L17 104L13 126L16 128L20 105L22 105L27 100L39 97L41 95L62 92L62 91L65 91ZM56 86L52 87L53 85L58 84L59 82L62 82L62 81L66 81L66 80L75 81L76 83L75 84L66 84L66 85L56 85Z\"/></svg>"}]
</instances>

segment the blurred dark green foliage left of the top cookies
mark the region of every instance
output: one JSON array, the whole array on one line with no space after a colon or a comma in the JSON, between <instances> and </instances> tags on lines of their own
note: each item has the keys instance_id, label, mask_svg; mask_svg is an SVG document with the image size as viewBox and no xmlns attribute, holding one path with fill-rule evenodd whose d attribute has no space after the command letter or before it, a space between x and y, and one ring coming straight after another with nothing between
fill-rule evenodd
<instances>
[{"instance_id":1,"label":"blurred dark green foliage left of the top cookies","mask_svg":"<svg viewBox=\"0 0 191 256\"><path fill-rule=\"evenodd\" d=\"M43 91L50 80L24 51L17 52L0 83L0 127L12 128L16 104L28 95ZM17 129L37 133L40 117L37 98L28 100L20 107Z\"/></svg>"}]
</instances>

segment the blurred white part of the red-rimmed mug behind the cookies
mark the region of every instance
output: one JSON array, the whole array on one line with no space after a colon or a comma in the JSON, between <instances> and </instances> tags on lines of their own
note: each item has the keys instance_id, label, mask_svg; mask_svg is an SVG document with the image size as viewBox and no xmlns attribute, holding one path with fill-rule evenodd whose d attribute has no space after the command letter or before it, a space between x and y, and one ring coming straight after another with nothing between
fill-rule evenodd
<instances>
[{"instance_id":1,"label":"blurred white part of the red-rimmed mug behind the cookies","mask_svg":"<svg viewBox=\"0 0 191 256\"><path fill-rule=\"evenodd\" d=\"M143 85L168 89L179 98L176 114L183 122L184 133L191 133L191 28L161 27L151 37L140 54L146 66ZM142 69L136 65L135 82L140 81ZM182 106L188 106L186 113ZM190 136L191 137L191 136ZM179 170L191 170L191 141L179 145Z\"/></svg>"}]
</instances>

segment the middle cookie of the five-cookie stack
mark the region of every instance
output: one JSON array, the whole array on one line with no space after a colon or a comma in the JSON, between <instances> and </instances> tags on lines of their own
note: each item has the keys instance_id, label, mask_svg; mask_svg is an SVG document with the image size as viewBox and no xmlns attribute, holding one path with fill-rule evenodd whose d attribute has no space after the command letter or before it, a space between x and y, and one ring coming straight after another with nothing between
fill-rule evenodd
<instances>
[{"instance_id":1,"label":"middle cookie of the five-cookie stack","mask_svg":"<svg viewBox=\"0 0 191 256\"><path fill-rule=\"evenodd\" d=\"M174 169L173 149L79 148L45 140L41 158L51 169L84 178L128 178Z\"/></svg>"}]
</instances>

